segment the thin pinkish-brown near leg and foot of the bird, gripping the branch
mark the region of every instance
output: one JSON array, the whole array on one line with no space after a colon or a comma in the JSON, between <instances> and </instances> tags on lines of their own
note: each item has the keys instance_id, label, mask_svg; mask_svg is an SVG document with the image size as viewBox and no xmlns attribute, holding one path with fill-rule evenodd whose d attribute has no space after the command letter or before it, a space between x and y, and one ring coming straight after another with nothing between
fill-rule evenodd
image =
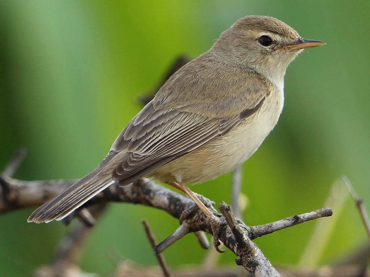
<instances>
[{"instance_id":1,"label":"thin pinkish-brown near leg and foot of the bird, gripping the branch","mask_svg":"<svg viewBox=\"0 0 370 277\"><path fill-rule=\"evenodd\" d=\"M205 216L209 220L209 223L211 224L212 233L213 233L213 246L218 252L220 253L225 252L225 250L220 250L218 248L220 246L220 242L218 240L220 224L218 220L216 219L216 216L213 215L211 211L209 211L209 209L203 204L203 202L199 200L199 198L195 195L195 193L191 189L189 189L189 187L185 185L184 182L179 181L179 182L172 183L170 185L171 187L183 192L185 195L188 195L195 202L195 204L199 207L199 209L201 209L201 211L205 214Z\"/></svg>"}]
</instances>

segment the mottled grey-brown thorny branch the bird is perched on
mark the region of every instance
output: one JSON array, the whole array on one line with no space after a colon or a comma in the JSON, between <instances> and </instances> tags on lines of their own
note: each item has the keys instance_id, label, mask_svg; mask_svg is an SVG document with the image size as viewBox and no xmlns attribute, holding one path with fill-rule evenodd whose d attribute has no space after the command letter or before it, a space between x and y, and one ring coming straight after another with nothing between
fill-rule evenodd
<instances>
[{"instance_id":1,"label":"mottled grey-brown thorny branch the bird is perched on","mask_svg":"<svg viewBox=\"0 0 370 277\"><path fill-rule=\"evenodd\" d=\"M48 199L60 191L63 191L74 182L75 180L21 181L10 178L3 174L1 178L3 189L0 193L0 196L2 196L0 197L0 212L4 213L18 208L43 204ZM6 190L4 187L16 195L16 197L12 199L11 203L6 201L7 196L5 194ZM212 212L216 212L213 208L212 201L204 198L201 195L199 195L199 197L201 197L202 201L205 202L206 206L210 207ZM183 211L192 210L191 208L194 207L194 203L187 196L180 195L168 188L157 185L149 179L139 179L138 181L124 187L119 187L118 184L111 185L88 201L82 208L86 208L92 204L107 203L111 201L152 206L154 208L162 209L178 219ZM226 247L231 249L237 255L237 264L245 267L251 273L263 265L264 267L262 268L267 268L268 270L265 272L273 272L271 271L273 267L266 257L263 256L258 247L251 242L252 239L272 233L282 228L323 216L330 216L332 214L330 209L322 209L307 214L286 218L278 222L269 223L268 225L250 227L246 226L240 221L237 221L232 215L230 208L225 204L221 204L220 210L226 218L225 221L225 219L221 216L218 217L220 223L220 240L223 242L223 244L225 244ZM77 210L76 215L79 215L80 217L85 218L85 220L88 222L91 222L91 218L88 216L88 213L81 212L81 209ZM159 254L187 233L197 231L212 233L212 228L209 224L209 221L199 209L195 209L194 212L190 212L188 218L182 222L179 228L171 236L164 240L164 242L159 243L155 247L155 252ZM82 239L82 237L84 237L84 232L80 230L78 233L81 234ZM76 244L77 246L80 245L80 243ZM69 251L71 252L73 250ZM252 264L252 267L250 265L250 255L253 255L256 261L256 263ZM70 264L72 261L75 261L75 259L68 259L70 260ZM65 259L63 261L65 261ZM275 274L275 276L278 275Z\"/></svg>"}]
</instances>

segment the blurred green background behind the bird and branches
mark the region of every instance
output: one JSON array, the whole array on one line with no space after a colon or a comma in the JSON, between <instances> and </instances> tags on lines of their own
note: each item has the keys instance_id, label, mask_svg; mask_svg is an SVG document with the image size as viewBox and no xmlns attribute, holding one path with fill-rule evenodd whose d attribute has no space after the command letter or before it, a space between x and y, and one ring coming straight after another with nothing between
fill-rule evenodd
<instances>
[{"instance_id":1,"label":"blurred green background behind the bird and branches","mask_svg":"<svg viewBox=\"0 0 370 277\"><path fill-rule=\"evenodd\" d=\"M16 178L83 177L141 109L138 97L178 55L205 52L240 17L270 15L327 45L303 52L287 69L280 121L243 166L245 222L258 225L322 208L342 174L370 207L369 11L367 0L0 1L0 166L24 146L28 155ZM216 203L230 202L230 178L192 188ZM46 264L68 230L60 222L26 223L31 211L0 216L1 276ZM337 215L324 251L315 254L319 264L367 243L349 197ZM158 240L178 226L162 211L112 204L86 241L82 269L111 272L110 254L116 252L155 265L141 219ZM294 266L314 224L256 243L274 264ZM165 251L171 267L199 264L206 254L192 235ZM218 264L236 266L230 252Z\"/></svg>"}]
</instances>

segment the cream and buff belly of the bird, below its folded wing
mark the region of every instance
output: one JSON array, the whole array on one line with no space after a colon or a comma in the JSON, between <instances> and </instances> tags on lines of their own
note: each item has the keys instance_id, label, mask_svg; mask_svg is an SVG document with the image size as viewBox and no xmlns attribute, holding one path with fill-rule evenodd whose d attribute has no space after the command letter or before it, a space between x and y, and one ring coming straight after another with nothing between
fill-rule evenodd
<instances>
[{"instance_id":1,"label":"cream and buff belly of the bird, below its folded wing","mask_svg":"<svg viewBox=\"0 0 370 277\"><path fill-rule=\"evenodd\" d=\"M267 101L266 101L267 102ZM279 119L282 105L264 103L252 117L189 154L151 172L161 182L205 182L233 170L260 146Z\"/></svg>"}]
</instances>

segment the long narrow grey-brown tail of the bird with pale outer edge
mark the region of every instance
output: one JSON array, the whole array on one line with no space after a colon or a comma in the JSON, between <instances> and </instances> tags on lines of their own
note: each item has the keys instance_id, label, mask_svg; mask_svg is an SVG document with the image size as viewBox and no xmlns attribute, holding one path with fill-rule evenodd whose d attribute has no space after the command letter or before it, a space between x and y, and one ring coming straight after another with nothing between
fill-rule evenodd
<instances>
[{"instance_id":1,"label":"long narrow grey-brown tail of the bird with pale outer edge","mask_svg":"<svg viewBox=\"0 0 370 277\"><path fill-rule=\"evenodd\" d=\"M40 206L27 221L41 223L61 220L114 182L111 169L98 167Z\"/></svg>"}]
</instances>

